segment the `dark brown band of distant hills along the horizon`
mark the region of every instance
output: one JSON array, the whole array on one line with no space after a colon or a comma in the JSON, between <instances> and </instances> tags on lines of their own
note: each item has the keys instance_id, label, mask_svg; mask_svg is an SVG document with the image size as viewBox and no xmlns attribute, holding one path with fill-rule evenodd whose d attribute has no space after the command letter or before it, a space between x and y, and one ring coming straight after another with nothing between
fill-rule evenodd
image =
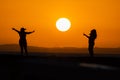
<instances>
[{"instance_id":1,"label":"dark brown band of distant hills along the horizon","mask_svg":"<svg viewBox=\"0 0 120 80\"><path fill-rule=\"evenodd\" d=\"M19 45L17 44L5 44L0 45L0 52L14 53L20 52ZM64 47L64 48L44 48L28 46L28 52L30 53L56 53L56 54L88 54L87 48L75 48L75 47ZM95 54L120 54L120 48L95 48Z\"/></svg>"}]
</instances>

